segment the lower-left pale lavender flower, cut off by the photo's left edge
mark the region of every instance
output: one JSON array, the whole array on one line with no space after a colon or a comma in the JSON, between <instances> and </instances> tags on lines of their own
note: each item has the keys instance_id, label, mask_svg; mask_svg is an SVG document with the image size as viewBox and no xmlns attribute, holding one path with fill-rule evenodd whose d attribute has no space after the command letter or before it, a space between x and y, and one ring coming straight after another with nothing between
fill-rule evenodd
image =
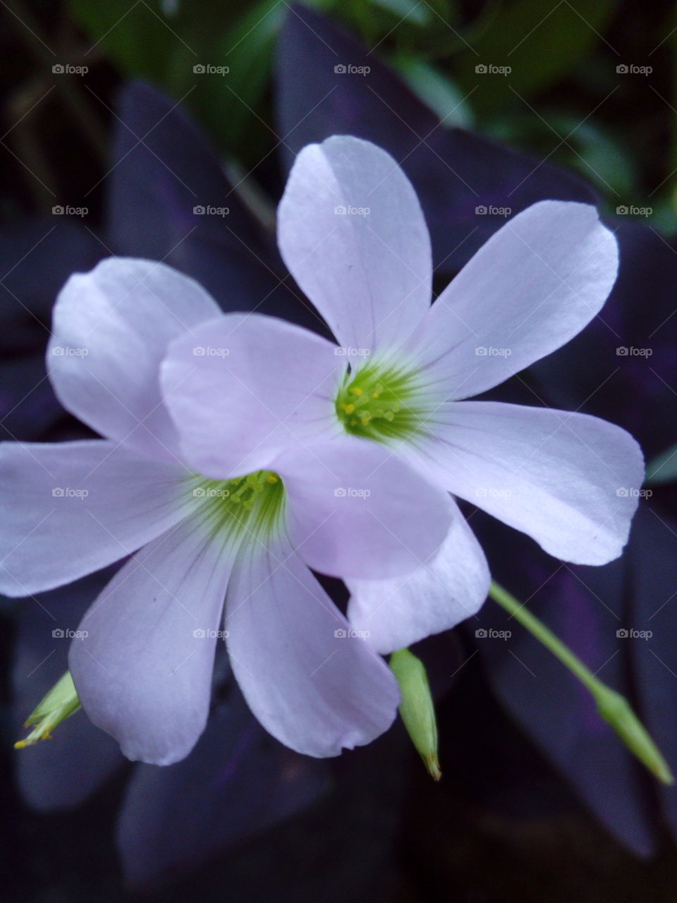
<instances>
[{"instance_id":1,"label":"lower-left pale lavender flower, cut off by the photo's left edge","mask_svg":"<svg viewBox=\"0 0 677 903\"><path fill-rule=\"evenodd\" d=\"M49 590L132 555L70 647L85 711L130 759L187 755L226 635L264 727L292 749L336 755L385 731L399 694L309 567L347 578L411 571L440 547L449 498L357 436L277 448L218 479L187 467L159 366L181 336L194 368L211 360L214 342L202 347L197 334L218 312L198 284L151 261L110 259L70 278L54 309L51 383L106 438L0 446L0 591ZM321 391L310 378L306 411ZM237 435L260 432L255 410L226 416Z\"/></svg>"}]
</instances>

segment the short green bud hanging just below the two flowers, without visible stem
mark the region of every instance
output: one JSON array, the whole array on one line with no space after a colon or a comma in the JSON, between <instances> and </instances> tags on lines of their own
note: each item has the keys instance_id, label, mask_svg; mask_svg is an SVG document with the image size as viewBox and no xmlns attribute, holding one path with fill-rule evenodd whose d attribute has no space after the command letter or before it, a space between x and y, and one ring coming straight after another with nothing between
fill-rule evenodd
<instances>
[{"instance_id":1,"label":"short green bud hanging just below the two flowers, without visible stem","mask_svg":"<svg viewBox=\"0 0 677 903\"><path fill-rule=\"evenodd\" d=\"M437 721L425 666L409 649L399 649L390 656L390 670L400 684L400 715L404 727L429 774L439 781L442 773L437 758Z\"/></svg>"}]
</instances>

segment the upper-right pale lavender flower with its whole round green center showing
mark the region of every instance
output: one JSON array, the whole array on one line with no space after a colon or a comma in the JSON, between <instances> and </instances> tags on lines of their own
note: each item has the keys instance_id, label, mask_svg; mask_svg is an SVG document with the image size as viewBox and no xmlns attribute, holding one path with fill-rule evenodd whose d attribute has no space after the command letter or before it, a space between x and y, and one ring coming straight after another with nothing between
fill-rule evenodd
<instances>
[{"instance_id":1,"label":"upper-right pale lavender flower with its whole round green center showing","mask_svg":"<svg viewBox=\"0 0 677 903\"><path fill-rule=\"evenodd\" d=\"M335 136L298 155L278 241L340 345L256 315L199 327L200 340L230 349L200 368L190 341L174 342L162 379L193 467L254 469L271 450L352 434L557 558L602 564L621 553L643 477L628 433L586 414L461 400L598 314L617 243L593 207L548 200L524 210L431 306L431 247L412 185L374 144ZM234 429L247 413L252 428ZM416 573L347 582L349 619L385 653L476 612L489 573L455 506L444 545Z\"/></svg>"}]
</instances>

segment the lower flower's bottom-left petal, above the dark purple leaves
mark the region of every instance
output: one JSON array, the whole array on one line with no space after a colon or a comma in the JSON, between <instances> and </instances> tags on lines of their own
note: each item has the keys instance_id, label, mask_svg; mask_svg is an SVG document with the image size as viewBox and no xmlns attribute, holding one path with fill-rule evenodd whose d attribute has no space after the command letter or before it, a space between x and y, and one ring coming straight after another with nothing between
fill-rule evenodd
<instances>
[{"instance_id":1,"label":"lower flower's bottom-left petal, above the dark purple leaves","mask_svg":"<svg viewBox=\"0 0 677 903\"><path fill-rule=\"evenodd\" d=\"M80 623L70 670L89 718L128 759L188 755L209 713L233 553L184 520L128 561Z\"/></svg>"}]
</instances>

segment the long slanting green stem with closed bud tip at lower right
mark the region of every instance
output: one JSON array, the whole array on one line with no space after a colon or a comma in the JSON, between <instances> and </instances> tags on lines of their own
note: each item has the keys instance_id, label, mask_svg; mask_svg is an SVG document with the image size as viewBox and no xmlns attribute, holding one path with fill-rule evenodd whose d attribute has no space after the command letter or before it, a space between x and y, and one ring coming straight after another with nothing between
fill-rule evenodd
<instances>
[{"instance_id":1,"label":"long slanting green stem with closed bud tip at lower right","mask_svg":"<svg viewBox=\"0 0 677 903\"><path fill-rule=\"evenodd\" d=\"M561 639L543 624L543 621L536 618L531 611L515 599L515 596L496 581L491 582L489 596L509 612L512 618L518 620L533 637L543 643L543 646L549 649L553 656L559 658L562 665L569 668L572 675L578 677L580 683L592 694L600 716L617 732L617 735L637 759L643 762L655 777L663 781L663 784L672 784L674 778L667 762L663 759L661 751L651 739L642 722L633 712L626 697L602 683L589 667L585 666L580 658L574 655L570 648L565 646Z\"/></svg>"}]
</instances>

